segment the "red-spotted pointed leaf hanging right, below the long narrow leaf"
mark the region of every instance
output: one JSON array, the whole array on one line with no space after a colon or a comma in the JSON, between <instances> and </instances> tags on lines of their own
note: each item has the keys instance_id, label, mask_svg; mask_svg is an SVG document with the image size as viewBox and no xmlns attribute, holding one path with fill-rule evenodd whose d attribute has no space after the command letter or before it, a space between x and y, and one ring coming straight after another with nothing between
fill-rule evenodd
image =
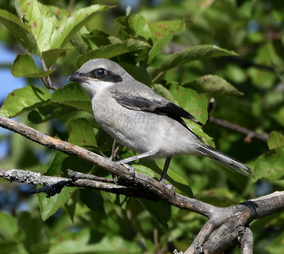
<instances>
[{"instance_id":1,"label":"red-spotted pointed leaf hanging right, below the long narrow leaf","mask_svg":"<svg viewBox=\"0 0 284 254\"><path fill-rule=\"evenodd\" d=\"M226 80L215 75L205 75L193 82L184 84L183 87L191 88L197 93L210 95L243 95Z\"/></svg>"}]
</instances>

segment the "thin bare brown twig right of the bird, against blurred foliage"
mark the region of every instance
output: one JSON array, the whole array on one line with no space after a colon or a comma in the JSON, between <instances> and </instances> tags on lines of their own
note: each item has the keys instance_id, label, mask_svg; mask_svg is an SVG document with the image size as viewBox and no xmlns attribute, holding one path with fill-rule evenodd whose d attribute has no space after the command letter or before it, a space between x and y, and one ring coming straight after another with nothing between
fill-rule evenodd
<instances>
[{"instance_id":1,"label":"thin bare brown twig right of the bird, against blurred foliage","mask_svg":"<svg viewBox=\"0 0 284 254\"><path fill-rule=\"evenodd\" d=\"M227 121L221 120L221 119L217 119L217 118L214 118L212 116L208 117L208 122L210 122L212 124L216 124L218 126L222 126L224 128L230 129L230 130L235 130L237 132L240 132L240 133L247 135L247 137L245 138L246 143L250 143L252 138L257 138L257 139L259 139L263 142L267 142L267 140L268 140L268 136L269 136L268 133L263 133L263 134L256 133L252 130L241 127L237 124L232 124L230 122L227 122Z\"/></svg>"}]
</instances>

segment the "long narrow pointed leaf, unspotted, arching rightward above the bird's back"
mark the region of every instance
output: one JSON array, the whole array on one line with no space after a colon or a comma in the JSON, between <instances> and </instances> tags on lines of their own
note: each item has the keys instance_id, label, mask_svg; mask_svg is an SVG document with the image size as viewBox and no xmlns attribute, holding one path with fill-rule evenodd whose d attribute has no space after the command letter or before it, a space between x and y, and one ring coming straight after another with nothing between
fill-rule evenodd
<instances>
[{"instance_id":1,"label":"long narrow pointed leaf, unspotted, arching rightward above the bird's back","mask_svg":"<svg viewBox=\"0 0 284 254\"><path fill-rule=\"evenodd\" d=\"M221 56L235 56L237 53L229 51L227 49L219 48L215 45L198 45L185 49L171 55L167 55L159 70L164 72L166 70L175 68L177 66L210 57L221 57Z\"/></svg>"}]
</instances>

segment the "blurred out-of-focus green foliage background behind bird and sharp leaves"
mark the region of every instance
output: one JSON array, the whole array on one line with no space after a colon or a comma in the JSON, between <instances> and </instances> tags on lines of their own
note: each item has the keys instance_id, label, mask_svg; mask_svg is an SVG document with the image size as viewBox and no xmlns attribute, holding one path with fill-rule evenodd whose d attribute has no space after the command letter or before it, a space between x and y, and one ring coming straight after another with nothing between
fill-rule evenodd
<instances>
[{"instance_id":1,"label":"blurred out-of-focus green foliage background behind bird and sharp leaves","mask_svg":"<svg viewBox=\"0 0 284 254\"><path fill-rule=\"evenodd\" d=\"M166 72L161 83L188 84L212 74L224 78L241 91L243 96L214 95L210 116L261 134L273 132L270 143L256 138L245 143L244 134L210 122L205 124L203 131L213 138L218 150L251 166L256 175L247 178L212 163L210 159L191 156L173 158L170 169L186 180L196 199L220 207L283 190L284 157L279 156L284 149L281 140L284 126L282 1L51 0L40 3L68 11L93 4L116 5L97 14L87 24L89 31L99 30L114 37L119 29L114 19L125 16L127 5L131 6L130 16L141 15L149 23L183 19L185 30L164 46L149 65L152 67L159 66L166 55L196 45L213 44L238 53L238 57L210 58L173 68ZM14 1L0 0L0 9L17 16ZM0 40L7 51L25 53L2 24ZM78 50L71 49L66 52L66 57L56 61L56 70L51 74L55 86L62 87L67 83L68 76L78 68L76 58L79 55ZM39 57L32 56L40 66ZM122 55L120 60L123 62L127 57L127 54ZM0 67L9 71L11 66L12 62L4 59ZM2 86L9 86L6 80L1 82ZM25 83L26 86L45 89L35 78L25 78ZM208 103L212 96L202 94L202 97ZM66 140L66 122L82 116L93 121L91 114L82 111L41 124L29 122L27 113L16 119L50 136L57 135ZM101 133L97 142L103 143L105 139L106 135ZM56 153L9 132L1 132L0 141L0 165L6 170L15 168L45 173ZM129 153L126 149L124 152ZM157 161L157 164L162 166L163 161ZM275 169L278 169L277 174L270 176L269 170ZM3 179L0 183L0 253L172 253L174 249L187 249L207 220L201 215L172 207L172 217L168 229L165 229L137 199L128 199L128 204L122 206L119 201L112 203L113 200L105 193L100 195L94 190L80 190L74 191L65 206L43 221L37 197L25 195L34 186L7 184ZM87 197L97 199L86 200ZM93 202L103 203L103 208L91 208ZM71 216L68 206L74 204L76 209ZM283 225L283 213L252 222L250 229L254 233L255 253L283 253ZM232 253L239 252L235 249Z\"/></svg>"}]
</instances>

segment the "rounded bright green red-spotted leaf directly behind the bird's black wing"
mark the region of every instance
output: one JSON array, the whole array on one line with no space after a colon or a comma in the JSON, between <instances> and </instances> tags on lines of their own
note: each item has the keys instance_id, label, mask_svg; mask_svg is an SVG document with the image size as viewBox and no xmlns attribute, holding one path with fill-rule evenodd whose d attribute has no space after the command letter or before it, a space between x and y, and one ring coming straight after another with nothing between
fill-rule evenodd
<instances>
[{"instance_id":1,"label":"rounded bright green red-spotted leaf directly behind the bird's black wing","mask_svg":"<svg viewBox=\"0 0 284 254\"><path fill-rule=\"evenodd\" d=\"M178 86L176 82L173 82L170 84L170 93L178 101L179 107L192 114L202 124L205 124L207 120L206 103L196 91Z\"/></svg>"}]
</instances>

